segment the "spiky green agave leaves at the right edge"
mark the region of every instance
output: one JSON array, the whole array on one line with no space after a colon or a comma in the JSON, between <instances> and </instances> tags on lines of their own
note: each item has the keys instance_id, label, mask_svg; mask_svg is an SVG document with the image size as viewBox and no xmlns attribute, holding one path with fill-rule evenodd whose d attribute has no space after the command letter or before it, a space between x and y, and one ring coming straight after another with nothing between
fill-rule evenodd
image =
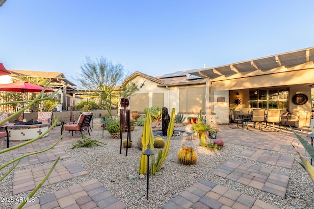
<instances>
[{"instance_id":1,"label":"spiky green agave leaves at the right edge","mask_svg":"<svg viewBox=\"0 0 314 209\"><path fill-rule=\"evenodd\" d=\"M291 128L291 127L290 127ZM292 128L294 135L299 139L305 150L309 153L310 157L314 159L314 147L305 139L303 139L300 135L298 135ZM312 134L314 134L314 128L311 126ZM291 143L293 146L293 144ZM299 157L301 159L300 165L309 173L312 183L314 184L314 166L309 163L305 157L293 146L295 151L299 154Z\"/></svg>"}]
</instances>

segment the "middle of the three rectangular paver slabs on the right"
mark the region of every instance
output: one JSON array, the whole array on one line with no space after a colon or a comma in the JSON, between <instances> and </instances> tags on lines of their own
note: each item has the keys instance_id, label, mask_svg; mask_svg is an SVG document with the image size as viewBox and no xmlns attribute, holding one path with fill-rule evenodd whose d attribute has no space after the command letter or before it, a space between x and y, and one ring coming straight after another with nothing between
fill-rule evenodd
<instances>
[{"instance_id":1,"label":"middle of the three rectangular paver slabs on the right","mask_svg":"<svg viewBox=\"0 0 314 209\"><path fill-rule=\"evenodd\" d=\"M233 171L225 170L224 167L233 167ZM217 171L218 170L218 171ZM245 186L250 186L261 191L275 194L282 198L286 197L286 191L290 174L273 169L265 169L258 165L251 165L248 163L241 163L235 160L230 160L221 165L218 169L212 172L217 176L225 176L226 179L235 181ZM236 197L234 197L236 198ZM233 199L230 196L230 199Z\"/></svg>"}]
</instances>

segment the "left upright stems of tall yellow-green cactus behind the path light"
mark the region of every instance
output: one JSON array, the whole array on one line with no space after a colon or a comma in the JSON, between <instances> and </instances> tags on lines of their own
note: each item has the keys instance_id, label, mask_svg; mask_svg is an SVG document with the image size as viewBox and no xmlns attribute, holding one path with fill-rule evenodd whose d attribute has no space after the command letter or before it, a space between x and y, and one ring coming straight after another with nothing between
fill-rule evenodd
<instances>
[{"instance_id":1,"label":"left upright stems of tall yellow-green cactus behind the path light","mask_svg":"<svg viewBox=\"0 0 314 209\"><path fill-rule=\"evenodd\" d=\"M154 151L154 135L152 130L152 118L148 108L145 108L145 120L144 120L144 127L143 127L143 135L142 135L142 153L147 149L147 145L150 144L150 149ZM155 166L155 155L152 156ZM152 163L152 164L153 164ZM140 162L139 162L139 174L145 174L147 172L147 156L141 155Z\"/></svg>"}]
</instances>

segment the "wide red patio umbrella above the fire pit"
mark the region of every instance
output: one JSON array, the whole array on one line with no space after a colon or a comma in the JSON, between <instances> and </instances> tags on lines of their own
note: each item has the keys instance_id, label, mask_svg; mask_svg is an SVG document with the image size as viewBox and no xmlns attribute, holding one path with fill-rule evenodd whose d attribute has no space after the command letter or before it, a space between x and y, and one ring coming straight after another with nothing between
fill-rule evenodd
<instances>
[{"instance_id":1,"label":"wide red patio umbrella above the fire pit","mask_svg":"<svg viewBox=\"0 0 314 209\"><path fill-rule=\"evenodd\" d=\"M44 87L37 86L35 84L31 84L29 82L23 82L23 81L18 81L14 83L9 83L9 84L2 84L0 85L0 92L41 92L44 89ZM54 92L51 89L46 89L46 92Z\"/></svg>"}]
</instances>

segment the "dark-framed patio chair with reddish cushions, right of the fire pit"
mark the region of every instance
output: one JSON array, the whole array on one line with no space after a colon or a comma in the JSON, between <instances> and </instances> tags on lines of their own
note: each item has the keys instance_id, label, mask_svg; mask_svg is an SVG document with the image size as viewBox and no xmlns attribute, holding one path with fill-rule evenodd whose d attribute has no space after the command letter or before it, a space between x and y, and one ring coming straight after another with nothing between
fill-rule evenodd
<instances>
[{"instance_id":1,"label":"dark-framed patio chair with reddish cushions, right of the fire pit","mask_svg":"<svg viewBox=\"0 0 314 209\"><path fill-rule=\"evenodd\" d=\"M61 134L62 134L63 130L72 131L72 136L73 136L74 131L75 131L75 133L77 133L77 131L79 131L79 133L82 134L82 131L87 130L88 134L90 136L89 124L90 124L92 117L93 117L93 114L81 114L81 116L78 119L78 122L74 122L74 123L69 124L69 125L66 125L67 122L63 122L62 126L61 126Z\"/></svg>"}]
</instances>

